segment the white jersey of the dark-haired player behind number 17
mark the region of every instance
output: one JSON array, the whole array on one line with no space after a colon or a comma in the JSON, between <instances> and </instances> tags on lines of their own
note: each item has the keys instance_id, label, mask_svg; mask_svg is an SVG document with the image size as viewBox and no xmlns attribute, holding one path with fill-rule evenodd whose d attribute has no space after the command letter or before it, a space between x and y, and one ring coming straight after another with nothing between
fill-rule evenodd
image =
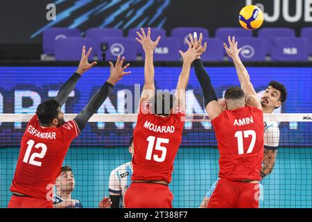
<instances>
[{"instance_id":1,"label":"white jersey of the dark-haired player behind number 17","mask_svg":"<svg viewBox=\"0 0 312 222\"><path fill-rule=\"evenodd\" d=\"M277 150L279 146L279 126L277 122L264 121L264 148Z\"/></svg>"}]
</instances>

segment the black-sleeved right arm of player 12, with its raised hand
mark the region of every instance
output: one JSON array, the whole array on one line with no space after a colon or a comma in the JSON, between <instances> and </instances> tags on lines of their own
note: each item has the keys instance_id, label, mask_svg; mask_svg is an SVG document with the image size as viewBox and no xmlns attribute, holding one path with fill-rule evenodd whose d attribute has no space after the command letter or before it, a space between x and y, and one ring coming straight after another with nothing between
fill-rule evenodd
<instances>
[{"instance_id":1,"label":"black-sleeved right arm of player 12, with its raised hand","mask_svg":"<svg viewBox=\"0 0 312 222\"><path fill-rule=\"evenodd\" d=\"M123 76L131 73L130 71L125 72L125 69L130 66L129 63L125 65L125 67L122 67L124 60L124 57L120 60L120 56L118 56L115 66L110 62L110 78L108 78L101 89L92 96L87 106L75 117L74 120L76 121L80 132L85 128L87 121L89 121L92 115L98 110L98 108L100 108L107 96L110 95L114 85L116 85Z\"/></svg>"}]
</instances>

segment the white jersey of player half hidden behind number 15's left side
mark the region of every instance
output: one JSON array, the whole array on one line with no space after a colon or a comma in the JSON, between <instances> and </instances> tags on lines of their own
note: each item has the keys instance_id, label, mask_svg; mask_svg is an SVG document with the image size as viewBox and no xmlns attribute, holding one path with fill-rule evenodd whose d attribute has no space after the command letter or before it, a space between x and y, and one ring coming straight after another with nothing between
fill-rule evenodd
<instances>
[{"instance_id":1,"label":"white jersey of player half hidden behind number 15's left side","mask_svg":"<svg viewBox=\"0 0 312 222\"><path fill-rule=\"evenodd\" d=\"M125 196L125 191L127 191L128 187L130 186L132 173L133 169L131 166L131 162L126 162L125 164L122 164L121 166L112 170L112 172L110 173L108 190L114 194L121 194L121 207L125 207L123 200Z\"/></svg>"}]
</instances>

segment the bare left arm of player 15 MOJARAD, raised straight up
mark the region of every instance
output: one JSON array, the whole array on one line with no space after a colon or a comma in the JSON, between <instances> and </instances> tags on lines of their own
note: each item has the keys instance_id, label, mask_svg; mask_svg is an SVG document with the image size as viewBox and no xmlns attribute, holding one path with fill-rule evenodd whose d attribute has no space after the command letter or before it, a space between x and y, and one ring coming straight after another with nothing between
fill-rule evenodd
<instances>
[{"instance_id":1,"label":"bare left arm of player 15 MOJARAD, raised straight up","mask_svg":"<svg viewBox=\"0 0 312 222\"><path fill-rule=\"evenodd\" d=\"M152 98L155 95L155 84L154 84L154 65L153 65L153 54L154 50L159 43L160 36L157 37L157 40L153 42L150 39L150 28L148 28L148 35L144 32L144 29L141 28L141 33L137 32L135 39L139 42L144 49L145 53L145 65L144 65L144 87L140 98L140 103Z\"/></svg>"}]
</instances>

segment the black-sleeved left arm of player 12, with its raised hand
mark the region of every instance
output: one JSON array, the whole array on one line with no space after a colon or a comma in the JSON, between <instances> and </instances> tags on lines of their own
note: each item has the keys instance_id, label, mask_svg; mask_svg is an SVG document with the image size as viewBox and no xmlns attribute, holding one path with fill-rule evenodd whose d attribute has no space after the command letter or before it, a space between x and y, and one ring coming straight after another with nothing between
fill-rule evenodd
<instances>
[{"instance_id":1,"label":"black-sleeved left arm of player 12, with its raised hand","mask_svg":"<svg viewBox=\"0 0 312 222\"><path fill-rule=\"evenodd\" d=\"M80 76L82 76L85 73L85 71L91 69L92 67L94 67L94 65L97 64L97 62L92 62L91 64L88 62L88 57L90 56L91 51L92 51L92 48L89 49L86 55L85 46L83 46L83 52L81 53L81 58L80 58L78 69L67 80L67 82L64 83L64 85L62 85L62 87L60 88L60 91L58 92L58 95L55 97L55 100L58 101L58 103L60 103L61 107L67 100L71 91L73 91L73 89L75 88Z\"/></svg>"}]
</instances>

